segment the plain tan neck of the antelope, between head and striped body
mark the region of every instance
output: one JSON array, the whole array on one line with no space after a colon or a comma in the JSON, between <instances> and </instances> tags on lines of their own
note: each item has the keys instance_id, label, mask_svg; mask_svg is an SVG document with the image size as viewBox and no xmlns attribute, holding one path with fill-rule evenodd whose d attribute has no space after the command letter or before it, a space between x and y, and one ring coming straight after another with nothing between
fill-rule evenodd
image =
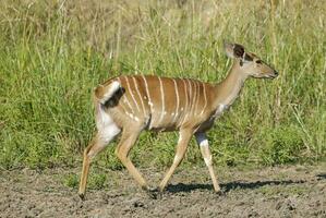
<instances>
[{"instance_id":1,"label":"plain tan neck of the antelope, between head and striped body","mask_svg":"<svg viewBox=\"0 0 326 218\"><path fill-rule=\"evenodd\" d=\"M227 77L215 86L214 106L230 106L239 96L247 75L241 72L240 61L234 60Z\"/></svg>"}]
</instances>

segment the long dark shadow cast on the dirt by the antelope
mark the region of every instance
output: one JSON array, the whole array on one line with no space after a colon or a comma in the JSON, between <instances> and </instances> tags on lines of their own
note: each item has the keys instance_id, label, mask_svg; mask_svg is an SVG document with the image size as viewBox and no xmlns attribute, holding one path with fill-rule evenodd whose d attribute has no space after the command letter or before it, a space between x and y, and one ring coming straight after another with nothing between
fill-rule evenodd
<instances>
[{"instance_id":1,"label":"long dark shadow cast on the dirt by the antelope","mask_svg":"<svg viewBox=\"0 0 326 218\"><path fill-rule=\"evenodd\" d=\"M325 177L325 174L322 174L322 177ZM229 182L220 184L222 192L227 193L231 190L254 190L259 189L265 185L289 185L289 184L300 184L304 183L305 181L299 180L283 180L283 181L256 181L256 182ZM209 190L213 191L212 184L184 184L184 183L178 183L178 184L170 184L167 187L167 192L170 193L179 193L179 192L192 192L194 190Z\"/></svg>"}]
</instances>

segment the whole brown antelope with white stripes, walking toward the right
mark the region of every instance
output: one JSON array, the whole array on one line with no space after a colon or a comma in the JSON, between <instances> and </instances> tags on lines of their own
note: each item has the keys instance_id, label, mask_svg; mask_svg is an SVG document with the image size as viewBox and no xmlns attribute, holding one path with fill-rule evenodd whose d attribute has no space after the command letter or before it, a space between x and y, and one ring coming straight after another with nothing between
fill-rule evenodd
<instances>
[{"instance_id":1,"label":"whole brown antelope with white stripes, walking toward the right","mask_svg":"<svg viewBox=\"0 0 326 218\"><path fill-rule=\"evenodd\" d=\"M149 190L145 179L129 158L129 152L143 130L179 131L173 164L160 182L159 191L164 191L183 159L193 135L208 168L214 190L220 191L205 132L212 128L215 119L233 104L247 77L275 78L278 75L256 55L245 52L241 45L225 43L225 50L227 56L233 59L233 64L228 76L218 84L155 75L121 75L95 88L95 120L98 131L84 150L79 191L82 198L92 159L120 132L121 140L116 155L136 182L144 190Z\"/></svg>"}]
</instances>

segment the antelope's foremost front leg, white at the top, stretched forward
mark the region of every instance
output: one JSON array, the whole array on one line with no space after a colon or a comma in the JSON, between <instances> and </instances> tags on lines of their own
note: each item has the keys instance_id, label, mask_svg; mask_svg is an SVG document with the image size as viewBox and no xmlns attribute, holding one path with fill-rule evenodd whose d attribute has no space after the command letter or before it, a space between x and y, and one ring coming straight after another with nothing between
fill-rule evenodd
<instances>
[{"instance_id":1,"label":"antelope's foremost front leg, white at the top, stretched forward","mask_svg":"<svg viewBox=\"0 0 326 218\"><path fill-rule=\"evenodd\" d=\"M210 178L213 181L214 190L215 190L215 192L219 192L220 187L218 185L216 175L214 173L212 154L210 154L209 146L208 146L208 140L207 140L205 133L197 133L197 134L195 134L195 136L196 136L197 144L201 147L201 152L202 152L204 161L208 168L208 171L209 171L209 174L210 174Z\"/></svg>"}]
</instances>

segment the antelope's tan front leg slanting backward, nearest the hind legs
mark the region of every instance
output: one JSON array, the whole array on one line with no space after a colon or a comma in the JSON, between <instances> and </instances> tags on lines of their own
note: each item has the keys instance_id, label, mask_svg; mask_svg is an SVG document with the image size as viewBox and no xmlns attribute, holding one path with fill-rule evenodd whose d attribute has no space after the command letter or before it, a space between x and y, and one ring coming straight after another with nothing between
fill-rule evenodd
<instances>
[{"instance_id":1,"label":"antelope's tan front leg slanting backward, nearest the hind legs","mask_svg":"<svg viewBox=\"0 0 326 218\"><path fill-rule=\"evenodd\" d=\"M174 156L174 160L168 172L166 173L165 178L159 184L159 191L162 192L170 180L171 175L173 174L176 168L180 165L181 160L184 157L184 154L186 152L188 144L191 140L192 131L189 130L182 130L180 131L179 142L177 145L177 152Z\"/></svg>"}]
</instances>

